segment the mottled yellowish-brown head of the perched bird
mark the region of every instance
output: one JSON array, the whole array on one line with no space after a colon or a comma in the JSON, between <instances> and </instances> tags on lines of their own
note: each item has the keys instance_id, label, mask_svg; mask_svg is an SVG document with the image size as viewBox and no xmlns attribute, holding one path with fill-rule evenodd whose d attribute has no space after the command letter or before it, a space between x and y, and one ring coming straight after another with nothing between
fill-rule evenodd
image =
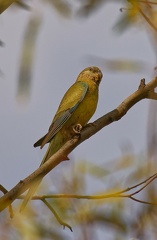
<instances>
[{"instance_id":1,"label":"mottled yellowish-brown head of the perched bird","mask_svg":"<svg viewBox=\"0 0 157 240\"><path fill-rule=\"evenodd\" d=\"M102 72L98 67L87 67L79 75L76 81L86 81L87 79L95 82L98 86L102 79Z\"/></svg>"}]
</instances>

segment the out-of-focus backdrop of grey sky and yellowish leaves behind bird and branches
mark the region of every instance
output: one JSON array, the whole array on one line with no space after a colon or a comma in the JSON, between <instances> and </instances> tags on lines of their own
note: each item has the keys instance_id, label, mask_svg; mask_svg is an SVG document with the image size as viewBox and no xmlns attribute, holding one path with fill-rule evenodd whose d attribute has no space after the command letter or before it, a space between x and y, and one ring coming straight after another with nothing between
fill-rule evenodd
<instances>
[{"instance_id":1,"label":"out-of-focus backdrop of grey sky and yellowish leaves behind bird and branches","mask_svg":"<svg viewBox=\"0 0 157 240\"><path fill-rule=\"evenodd\" d=\"M3 1L1 1L3 4ZM33 172L46 151L33 148L60 100L87 66L103 72L91 122L157 75L157 1L18 0L0 16L0 184L7 190ZM136 185L156 171L157 104L143 100L120 121L78 146L39 193L97 194ZM140 198L153 202L155 185ZM129 199L49 201L63 230L39 201L0 216L1 239L156 239L156 206ZM157 201L156 201L157 202Z\"/></svg>"}]
</instances>

